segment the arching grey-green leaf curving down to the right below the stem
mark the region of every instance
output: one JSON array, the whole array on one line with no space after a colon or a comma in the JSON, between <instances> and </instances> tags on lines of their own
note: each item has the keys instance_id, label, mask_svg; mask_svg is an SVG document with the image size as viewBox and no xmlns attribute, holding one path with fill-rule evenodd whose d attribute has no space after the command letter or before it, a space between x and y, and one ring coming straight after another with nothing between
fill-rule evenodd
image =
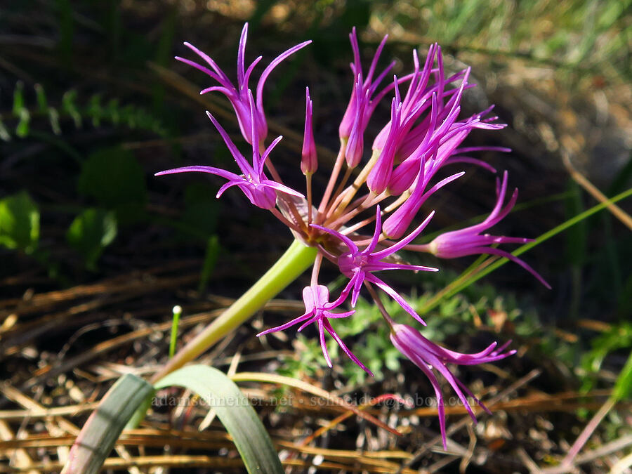
<instances>
[{"instance_id":1,"label":"arching grey-green leaf curving down to the right below the stem","mask_svg":"<svg viewBox=\"0 0 632 474\"><path fill-rule=\"evenodd\" d=\"M162 378L154 387L159 390L171 386L192 390L215 409L249 473L284 472L256 412L223 372L206 365L189 365Z\"/></svg>"}]
</instances>

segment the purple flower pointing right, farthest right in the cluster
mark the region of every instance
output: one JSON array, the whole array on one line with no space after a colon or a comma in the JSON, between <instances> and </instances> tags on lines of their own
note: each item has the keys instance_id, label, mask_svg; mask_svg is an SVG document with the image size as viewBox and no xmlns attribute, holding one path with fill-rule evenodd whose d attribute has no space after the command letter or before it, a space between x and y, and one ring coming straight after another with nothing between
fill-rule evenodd
<instances>
[{"instance_id":1,"label":"purple flower pointing right, farthest right in the cluster","mask_svg":"<svg viewBox=\"0 0 632 474\"><path fill-rule=\"evenodd\" d=\"M496 249L492 247L493 244L525 244L532 242L532 239L525 239L523 237L501 237L497 235L481 234L481 232L492 227L496 223L499 223L508 213L513 209L516 199L518 199L518 189L513 191L511 199L503 209L503 202L507 192L507 171L503 173L502 184L496 186L496 194L498 199L496 200L496 206L492 212L482 221L482 223L476 225L470 225L470 227L460 230L453 230L452 232L445 232L438 237L435 237L430 244L425 245L412 245L409 246L411 250L430 251L431 254L439 258L457 258L466 255L476 254L492 254L499 255L509 260L518 263L522 268L525 268L534 277L539 279L541 284L551 289L544 278L542 278L538 272L536 272L531 266L527 265L520 258L513 256L508 251Z\"/></svg>"}]
</instances>

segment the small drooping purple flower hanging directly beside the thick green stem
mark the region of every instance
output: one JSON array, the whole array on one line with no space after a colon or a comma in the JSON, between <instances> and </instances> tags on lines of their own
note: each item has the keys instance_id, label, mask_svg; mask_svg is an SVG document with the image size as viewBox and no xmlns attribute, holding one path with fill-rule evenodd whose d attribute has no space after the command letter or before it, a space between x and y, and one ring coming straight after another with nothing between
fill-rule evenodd
<instances>
[{"instance_id":1,"label":"small drooping purple flower hanging directly beside the thick green stem","mask_svg":"<svg viewBox=\"0 0 632 474\"><path fill-rule=\"evenodd\" d=\"M346 355L350 357L353 362L358 364L362 369L367 371L367 373L371 376L373 374L367 367L364 367L364 364L360 362L360 360L353 355L353 353L349 350L349 348L345 345L343 340L336 334L334 328L331 327L331 323L329 322L330 317L332 318L340 318L340 317L348 317L353 315L355 310L345 311L345 312L331 312L334 308L337 308L345 301L346 296L343 298L342 296L338 298L333 303L329 303L329 290L322 284L312 285L310 287L303 288L303 303L305 303L305 313L299 317L294 318L281 326L272 327L270 329L266 329L265 331L260 332L257 336L263 336L264 334L268 334L270 332L283 331L294 324L298 324L302 322L301 327L298 328L298 331L303 331L305 327L308 327L312 323L316 323L318 327L318 333L320 334L320 347L322 348L322 354L324 355L325 360L327 361L327 365L331 367L331 359L329 358L329 352L327 351L327 344L324 340L324 331L323 329L327 329L327 332L334 338L334 340L340 345L342 350Z\"/></svg>"}]
</instances>

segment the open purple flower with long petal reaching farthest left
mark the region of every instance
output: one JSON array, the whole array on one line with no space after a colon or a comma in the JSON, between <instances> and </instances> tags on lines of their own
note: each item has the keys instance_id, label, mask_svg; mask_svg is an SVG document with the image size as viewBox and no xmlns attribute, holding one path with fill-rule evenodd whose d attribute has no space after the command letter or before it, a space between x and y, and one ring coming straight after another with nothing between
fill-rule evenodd
<instances>
[{"instance_id":1,"label":"open purple flower with long petal reaching farthest left","mask_svg":"<svg viewBox=\"0 0 632 474\"><path fill-rule=\"evenodd\" d=\"M249 91L250 103L254 105L252 93ZM251 107L251 114L254 115L254 107ZM290 187L277 183L277 181L269 180L263 173L263 165L265 160L270 155L270 152L279 143L282 137L277 137L270 146L265 150L263 156L259 153L258 140L254 140L252 143L252 165L244 158L244 156L237 150L235 143L232 143L228 133L222 128L218 121L211 115L211 112L206 112L209 119L216 126L216 129L224 139L228 150L230 150L232 157L235 158L237 166L242 171L241 175L231 173L225 169L216 168L214 166L184 166L183 168L168 169L166 171L160 171L155 176L162 176L164 174L171 173L187 173L189 171L199 171L202 173L211 173L228 179L228 183L220 187L216 197L220 197L225 190L229 187L237 186L244 192L244 195L255 206L261 207L261 209L274 209L277 203L277 191L286 192L289 195L303 197L300 192L297 192ZM258 131L256 129L254 119L250 122L252 130L252 136L258 138Z\"/></svg>"}]
</instances>

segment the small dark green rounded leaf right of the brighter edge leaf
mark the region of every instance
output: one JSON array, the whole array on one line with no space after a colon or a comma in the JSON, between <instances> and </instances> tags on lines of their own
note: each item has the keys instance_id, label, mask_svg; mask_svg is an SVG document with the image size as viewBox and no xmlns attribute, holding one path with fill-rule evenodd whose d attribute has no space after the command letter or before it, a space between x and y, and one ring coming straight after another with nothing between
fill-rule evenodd
<instances>
[{"instance_id":1,"label":"small dark green rounded leaf right of the brighter edge leaf","mask_svg":"<svg viewBox=\"0 0 632 474\"><path fill-rule=\"evenodd\" d=\"M96 269L103 249L117 236L117 218L112 211L86 209L72 221L66 232L68 243L77 249L89 270Z\"/></svg>"}]
</instances>

